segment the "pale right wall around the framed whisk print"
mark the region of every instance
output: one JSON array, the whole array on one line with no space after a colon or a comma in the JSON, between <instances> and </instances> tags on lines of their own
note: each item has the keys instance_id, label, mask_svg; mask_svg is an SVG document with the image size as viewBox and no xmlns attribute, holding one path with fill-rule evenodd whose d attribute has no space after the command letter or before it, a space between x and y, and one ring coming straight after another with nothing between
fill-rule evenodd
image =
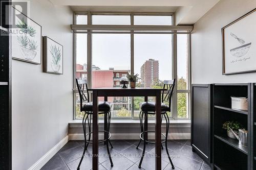
<instances>
[{"instance_id":1,"label":"pale right wall around the framed whisk print","mask_svg":"<svg viewBox=\"0 0 256 170\"><path fill-rule=\"evenodd\" d=\"M255 0L221 0L195 23L191 34L193 84L256 82L256 72L222 75L221 44L221 28L255 7Z\"/></svg>"}]
</instances>

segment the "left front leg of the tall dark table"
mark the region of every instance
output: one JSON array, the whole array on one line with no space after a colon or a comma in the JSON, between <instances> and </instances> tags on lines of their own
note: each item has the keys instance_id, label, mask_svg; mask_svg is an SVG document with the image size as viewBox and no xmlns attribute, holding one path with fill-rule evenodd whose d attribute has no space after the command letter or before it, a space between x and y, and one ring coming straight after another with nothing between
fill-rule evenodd
<instances>
[{"instance_id":1,"label":"left front leg of the tall dark table","mask_svg":"<svg viewBox=\"0 0 256 170\"><path fill-rule=\"evenodd\" d=\"M98 129L98 91L93 91L93 170L98 170L99 168Z\"/></svg>"}]
</instances>

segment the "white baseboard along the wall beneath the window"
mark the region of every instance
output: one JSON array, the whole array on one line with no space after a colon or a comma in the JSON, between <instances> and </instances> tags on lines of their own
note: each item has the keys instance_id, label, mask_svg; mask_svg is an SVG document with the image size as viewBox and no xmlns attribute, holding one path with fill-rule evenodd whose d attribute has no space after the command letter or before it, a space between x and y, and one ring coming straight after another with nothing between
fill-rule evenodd
<instances>
[{"instance_id":1,"label":"white baseboard along the wall beneath the window","mask_svg":"<svg viewBox=\"0 0 256 170\"><path fill-rule=\"evenodd\" d=\"M103 139L103 134L99 134L99 139ZM148 139L154 139L154 134L148 134ZM83 140L83 134L69 134L69 140ZM139 139L139 133L111 133L111 139L136 140ZM190 139L190 133L169 133L168 139Z\"/></svg>"}]
</instances>

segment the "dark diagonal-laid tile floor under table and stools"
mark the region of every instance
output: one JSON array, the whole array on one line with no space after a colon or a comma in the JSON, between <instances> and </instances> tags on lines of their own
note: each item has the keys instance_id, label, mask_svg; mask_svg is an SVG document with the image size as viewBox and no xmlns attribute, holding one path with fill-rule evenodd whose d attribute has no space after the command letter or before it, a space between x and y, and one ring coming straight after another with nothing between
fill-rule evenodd
<instances>
[{"instance_id":1,"label":"dark diagonal-laid tile floor under table and stools","mask_svg":"<svg viewBox=\"0 0 256 170\"><path fill-rule=\"evenodd\" d=\"M139 169L138 164L142 153L143 144L136 149L138 140L111 140L113 149L110 148L114 166L110 166L106 147L99 143L99 169L133 170ZM63 148L50 159L42 170L49 169L76 169L83 152L83 141L69 141ZM194 152L191 151L190 140L169 140L168 152L175 165L175 169L210 170L211 168ZM80 169L92 169L92 144L89 145L86 156ZM141 169L155 169L155 145L147 144L145 157ZM162 169L172 169L166 155L165 148L162 150Z\"/></svg>"}]
</instances>

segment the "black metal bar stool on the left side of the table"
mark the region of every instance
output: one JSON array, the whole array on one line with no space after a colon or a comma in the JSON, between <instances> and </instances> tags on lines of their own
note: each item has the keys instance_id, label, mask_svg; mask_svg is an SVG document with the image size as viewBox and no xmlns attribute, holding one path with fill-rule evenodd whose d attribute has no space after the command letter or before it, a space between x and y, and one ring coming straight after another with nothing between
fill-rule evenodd
<instances>
[{"instance_id":1,"label":"black metal bar stool on the left side of the table","mask_svg":"<svg viewBox=\"0 0 256 170\"><path fill-rule=\"evenodd\" d=\"M91 134L92 134L92 132L91 132L91 116L93 114L93 112L92 112L93 111L93 103L89 102L89 93L88 93L88 87L87 87L86 80L76 79L76 85L77 85L77 89L78 89L79 97L80 97L80 111L85 112L84 116L83 116L83 119L82 119L82 127L83 127L83 135L84 135L84 149L83 149L83 154L82 154L81 160L80 160L80 162L78 164L78 167L77 167L77 169L80 169L80 165L82 163L84 153L86 152L89 143L92 143L90 141L90 139L91 139ZM84 86L86 86L87 95L84 94L84 92L83 92ZM87 102L87 103L83 104L84 102ZM113 146L112 146L112 144L109 140L110 137L111 137L111 133L109 132L110 131L110 119L111 119L111 107L112 107L112 104L109 103L109 102L99 102L99 104L98 104L99 114L104 114L104 118L107 120L107 122L106 122L107 130L106 131L105 130L99 130L99 132L104 132L104 133L108 134L108 137L104 140L100 140L99 143L102 143L102 142L106 141L106 149L108 151L108 156L109 156L109 159L110 159L111 166L113 166L113 162L112 162L111 155L110 155L110 150L109 150L109 143L111 145L111 148L113 148ZM89 115L90 115L90 117L89 117ZM86 134L86 121L87 120L88 120L88 129L89 129L88 134ZM89 136L88 140L87 140L87 136Z\"/></svg>"}]
</instances>

